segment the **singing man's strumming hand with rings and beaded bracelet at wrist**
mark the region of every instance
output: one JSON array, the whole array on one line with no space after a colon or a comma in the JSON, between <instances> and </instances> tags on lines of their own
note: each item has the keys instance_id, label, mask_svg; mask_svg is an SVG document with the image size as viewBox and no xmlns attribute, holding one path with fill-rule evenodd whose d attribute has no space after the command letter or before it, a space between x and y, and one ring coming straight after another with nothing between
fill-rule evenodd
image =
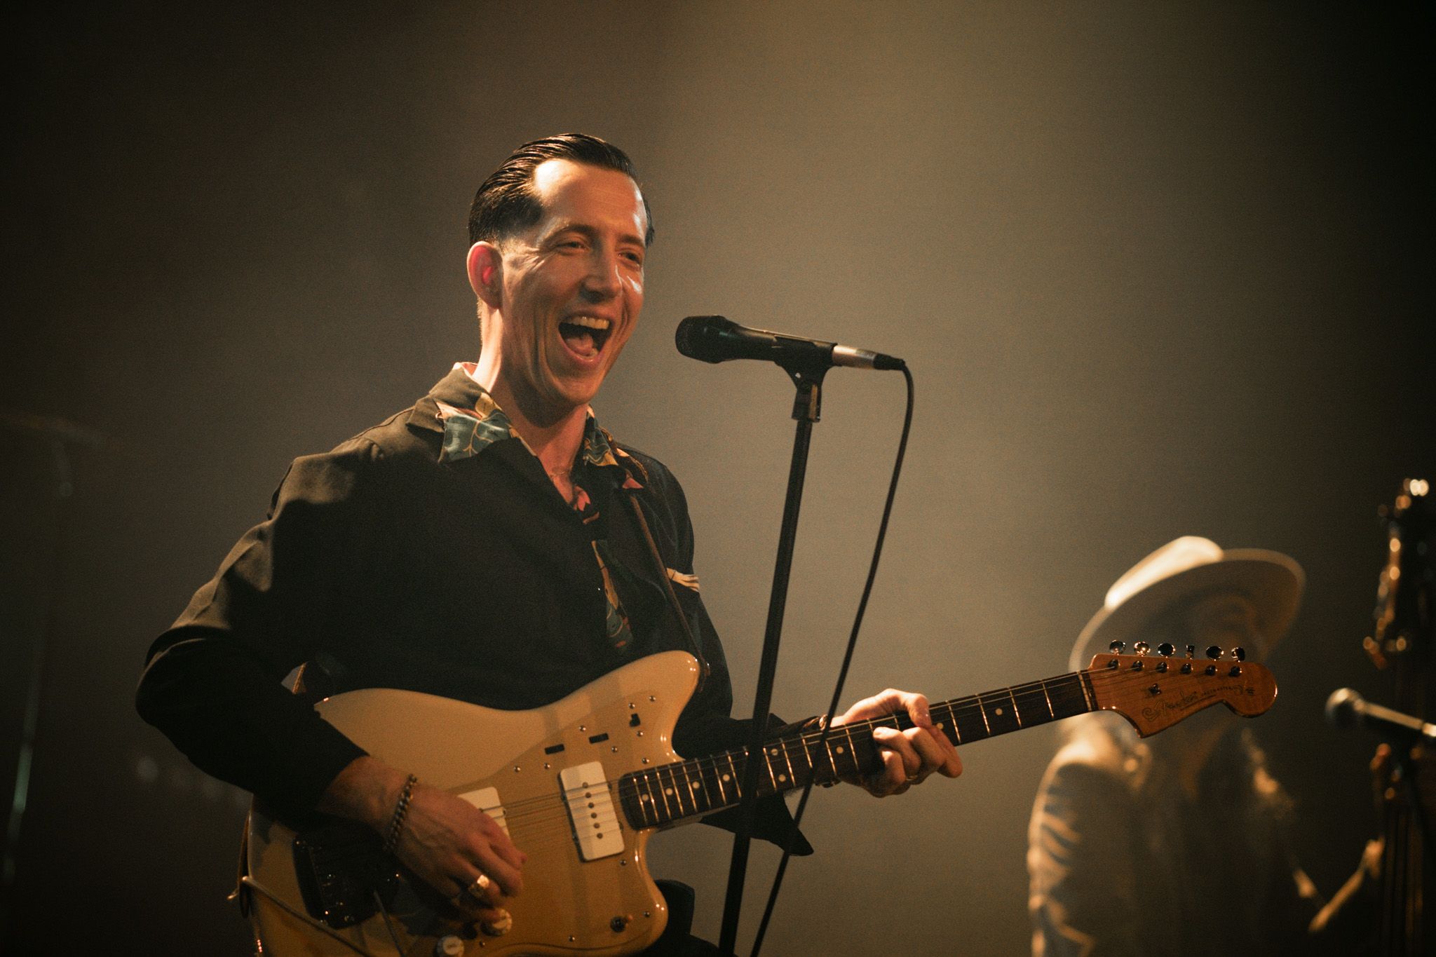
<instances>
[{"instance_id":1,"label":"singing man's strumming hand with rings and beaded bracelet at wrist","mask_svg":"<svg viewBox=\"0 0 1436 957\"><path fill-rule=\"evenodd\" d=\"M406 781L406 773L376 758L356 758L330 782L319 809L368 824L382 836ZM520 871L527 855L504 829L462 798L424 782L409 795L395 857L484 924L503 924L508 914L500 898L524 885Z\"/></svg>"}]
</instances>

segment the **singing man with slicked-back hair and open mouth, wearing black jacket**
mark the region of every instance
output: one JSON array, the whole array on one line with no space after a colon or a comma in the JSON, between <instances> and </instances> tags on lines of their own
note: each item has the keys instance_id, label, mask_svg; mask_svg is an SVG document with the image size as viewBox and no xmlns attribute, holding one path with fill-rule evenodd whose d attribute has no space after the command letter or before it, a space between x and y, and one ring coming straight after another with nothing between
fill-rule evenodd
<instances>
[{"instance_id":1,"label":"singing man with slicked-back hair and open mouth, wearing black jacket","mask_svg":"<svg viewBox=\"0 0 1436 957\"><path fill-rule=\"evenodd\" d=\"M490 925L523 890L523 848L467 801L363 753L280 679L317 661L335 690L527 709L692 643L712 673L675 746L742 743L682 489L589 407L638 324L652 235L622 151L584 135L516 151L470 214L478 362L297 459L269 521L151 649L139 687L141 713L200 768L281 811L372 826ZM898 710L918 726L879 729L883 766L862 783L882 796L932 772L955 778L961 762L920 694L889 690L834 723ZM768 801L758 836L790 831Z\"/></svg>"}]
</instances>

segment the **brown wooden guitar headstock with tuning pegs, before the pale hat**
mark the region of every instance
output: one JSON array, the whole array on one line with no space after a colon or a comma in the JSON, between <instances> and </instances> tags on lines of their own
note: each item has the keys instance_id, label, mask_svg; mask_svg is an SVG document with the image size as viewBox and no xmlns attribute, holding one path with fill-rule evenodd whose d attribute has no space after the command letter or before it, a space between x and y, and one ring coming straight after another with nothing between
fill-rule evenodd
<instances>
[{"instance_id":1,"label":"brown wooden guitar headstock with tuning pegs, before the pale hat","mask_svg":"<svg viewBox=\"0 0 1436 957\"><path fill-rule=\"evenodd\" d=\"M1170 651L1170 646L1162 649ZM1139 643L1139 650L1146 649ZM1244 717L1255 717L1277 700L1271 671L1244 661L1241 649L1223 651L1213 646L1206 654L1206 659L1170 653L1096 654L1083 674L1091 683L1097 709L1117 712L1142 737L1212 704L1226 704Z\"/></svg>"}]
</instances>

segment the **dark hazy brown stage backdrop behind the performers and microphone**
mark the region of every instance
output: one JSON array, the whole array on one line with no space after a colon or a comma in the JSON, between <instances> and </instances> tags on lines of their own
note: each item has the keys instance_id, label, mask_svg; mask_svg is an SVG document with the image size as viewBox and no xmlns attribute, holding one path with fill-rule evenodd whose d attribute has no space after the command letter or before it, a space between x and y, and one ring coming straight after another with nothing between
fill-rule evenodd
<instances>
[{"instance_id":1,"label":"dark hazy brown stage backdrop behind the performers and microphone","mask_svg":"<svg viewBox=\"0 0 1436 957\"><path fill-rule=\"evenodd\" d=\"M849 699L1063 671L1107 585L1176 535L1294 555L1305 607L1255 729L1304 865L1325 892L1344 880L1373 829L1373 740L1321 704L1343 684L1389 699L1360 650L1376 509L1436 478L1430 4L263 6L13 24L6 795L52 595L55 613L9 951L103 934L106 953L247 953L223 900L246 798L134 715L145 647L290 458L475 354L472 189L569 129L628 149L653 205L648 308L597 410L685 482L740 710L791 387L673 353L694 313L915 372ZM826 706L900 403L896 376L829 379L787 716ZM108 436L73 451L65 508L16 415ZM969 748L959 782L900 801L819 795L819 855L791 868L765 953L1022 953L1027 815L1055 745ZM707 828L652 845L698 885L709 935L727 851ZM774 861L755 852L744 940Z\"/></svg>"}]
</instances>

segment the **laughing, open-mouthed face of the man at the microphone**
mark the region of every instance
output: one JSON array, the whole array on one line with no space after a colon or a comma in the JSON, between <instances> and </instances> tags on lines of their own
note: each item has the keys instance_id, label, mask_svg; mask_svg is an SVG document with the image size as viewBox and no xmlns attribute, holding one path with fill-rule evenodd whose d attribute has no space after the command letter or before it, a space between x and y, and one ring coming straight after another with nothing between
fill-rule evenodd
<instances>
[{"instance_id":1,"label":"laughing, open-mouthed face of the man at the microphone","mask_svg":"<svg viewBox=\"0 0 1436 957\"><path fill-rule=\"evenodd\" d=\"M500 244L500 376L531 419L586 406L643 308L648 215L615 169L549 159L534 169L538 224ZM490 343L484 343L490 349Z\"/></svg>"}]
</instances>

